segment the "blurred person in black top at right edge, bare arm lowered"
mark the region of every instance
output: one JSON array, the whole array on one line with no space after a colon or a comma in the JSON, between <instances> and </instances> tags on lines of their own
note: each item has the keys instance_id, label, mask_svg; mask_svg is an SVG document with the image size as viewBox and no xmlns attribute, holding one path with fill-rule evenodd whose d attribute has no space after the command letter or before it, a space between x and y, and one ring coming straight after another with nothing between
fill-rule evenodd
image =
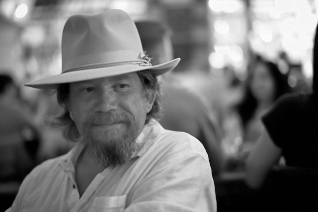
<instances>
[{"instance_id":1,"label":"blurred person in black top at right edge, bare arm lowered","mask_svg":"<svg viewBox=\"0 0 318 212\"><path fill-rule=\"evenodd\" d=\"M262 117L264 130L246 160L246 183L251 188L263 185L281 156L287 166L318 170L318 28L313 71L311 93L284 95Z\"/></svg>"}]
</instances>

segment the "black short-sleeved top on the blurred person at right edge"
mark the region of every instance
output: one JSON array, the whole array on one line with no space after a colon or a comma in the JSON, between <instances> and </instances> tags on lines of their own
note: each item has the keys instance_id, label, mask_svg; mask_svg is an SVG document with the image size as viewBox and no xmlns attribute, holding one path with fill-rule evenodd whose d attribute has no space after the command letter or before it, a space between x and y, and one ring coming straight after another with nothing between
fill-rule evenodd
<instances>
[{"instance_id":1,"label":"black short-sleeved top on the blurred person at right edge","mask_svg":"<svg viewBox=\"0 0 318 212\"><path fill-rule=\"evenodd\" d=\"M288 166L318 168L318 98L315 94L281 97L262 121Z\"/></svg>"}]
</instances>

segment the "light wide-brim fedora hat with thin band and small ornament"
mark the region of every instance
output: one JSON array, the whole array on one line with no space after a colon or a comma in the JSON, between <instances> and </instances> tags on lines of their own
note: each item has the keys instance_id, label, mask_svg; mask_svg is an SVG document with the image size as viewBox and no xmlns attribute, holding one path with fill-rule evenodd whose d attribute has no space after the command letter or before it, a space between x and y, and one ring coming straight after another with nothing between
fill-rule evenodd
<instances>
[{"instance_id":1,"label":"light wide-brim fedora hat with thin band and small ornament","mask_svg":"<svg viewBox=\"0 0 318 212\"><path fill-rule=\"evenodd\" d=\"M150 57L144 54L136 25L125 11L110 9L97 15L73 15L62 34L62 73L25 85L55 89L61 83L143 70L160 75L174 69L180 61L177 58L152 66Z\"/></svg>"}]
</instances>

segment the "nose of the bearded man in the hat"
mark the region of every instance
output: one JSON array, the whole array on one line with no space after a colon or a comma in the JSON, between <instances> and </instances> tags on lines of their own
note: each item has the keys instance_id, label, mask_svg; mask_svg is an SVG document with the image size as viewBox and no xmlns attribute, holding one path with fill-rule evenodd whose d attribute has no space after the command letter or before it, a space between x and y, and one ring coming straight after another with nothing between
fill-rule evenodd
<instances>
[{"instance_id":1,"label":"nose of the bearded man in the hat","mask_svg":"<svg viewBox=\"0 0 318 212\"><path fill-rule=\"evenodd\" d=\"M98 92L95 111L108 112L117 108L116 92L111 89L104 89Z\"/></svg>"}]
</instances>

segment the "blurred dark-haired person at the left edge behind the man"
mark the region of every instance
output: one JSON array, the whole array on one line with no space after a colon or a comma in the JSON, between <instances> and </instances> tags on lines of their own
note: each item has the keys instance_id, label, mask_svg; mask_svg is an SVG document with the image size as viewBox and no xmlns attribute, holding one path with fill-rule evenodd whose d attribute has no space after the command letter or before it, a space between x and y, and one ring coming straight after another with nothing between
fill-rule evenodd
<instances>
[{"instance_id":1,"label":"blurred dark-haired person at the left edge behind the man","mask_svg":"<svg viewBox=\"0 0 318 212\"><path fill-rule=\"evenodd\" d=\"M0 74L0 181L22 181L37 164L41 134L8 71Z\"/></svg>"}]
</instances>

